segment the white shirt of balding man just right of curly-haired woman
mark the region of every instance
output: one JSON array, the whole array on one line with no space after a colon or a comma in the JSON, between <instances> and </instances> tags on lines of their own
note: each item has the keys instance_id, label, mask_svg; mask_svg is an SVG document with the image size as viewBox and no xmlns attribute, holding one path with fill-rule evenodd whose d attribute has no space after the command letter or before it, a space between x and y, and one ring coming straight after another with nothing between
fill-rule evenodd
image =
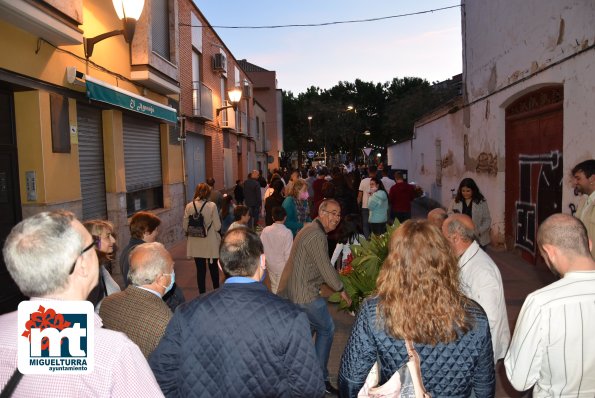
<instances>
[{"instance_id":1,"label":"white shirt of balding man just right of curly-haired woman","mask_svg":"<svg viewBox=\"0 0 595 398\"><path fill-rule=\"evenodd\" d=\"M477 301L488 316L496 362L504 358L510 343L510 328L500 270L475 241L459 259L459 269L463 293Z\"/></svg>"}]
</instances>

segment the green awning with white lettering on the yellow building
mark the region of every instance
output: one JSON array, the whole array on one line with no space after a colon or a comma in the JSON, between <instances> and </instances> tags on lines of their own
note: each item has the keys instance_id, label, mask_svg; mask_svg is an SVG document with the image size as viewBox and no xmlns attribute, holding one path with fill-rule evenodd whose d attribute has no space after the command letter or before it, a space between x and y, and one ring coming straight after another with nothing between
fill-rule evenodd
<instances>
[{"instance_id":1,"label":"green awning with white lettering on the yellow building","mask_svg":"<svg viewBox=\"0 0 595 398\"><path fill-rule=\"evenodd\" d=\"M90 76L85 76L85 80L87 82L87 97L92 100L163 119L170 123L178 122L177 111L172 107L122 90Z\"/></svg>"}]
</instances>

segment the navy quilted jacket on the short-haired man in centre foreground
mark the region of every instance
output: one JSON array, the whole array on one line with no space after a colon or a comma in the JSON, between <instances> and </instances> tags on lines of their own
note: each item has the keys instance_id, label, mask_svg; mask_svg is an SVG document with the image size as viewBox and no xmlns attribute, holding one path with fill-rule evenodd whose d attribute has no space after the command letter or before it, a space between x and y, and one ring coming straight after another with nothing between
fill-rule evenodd
<instances>
[{"instance_id":1,"label":"navy quilted jacket on the short-haired man in centre foreground","mask_svg":"<svg viewBox=\"0 0 595 398\"><path fill-rule=\"evenodd\" d=\"M321 397L306 314L261 283L225 283L176 310L149 364L166 397Z\"/></svg>"}]
</instances>

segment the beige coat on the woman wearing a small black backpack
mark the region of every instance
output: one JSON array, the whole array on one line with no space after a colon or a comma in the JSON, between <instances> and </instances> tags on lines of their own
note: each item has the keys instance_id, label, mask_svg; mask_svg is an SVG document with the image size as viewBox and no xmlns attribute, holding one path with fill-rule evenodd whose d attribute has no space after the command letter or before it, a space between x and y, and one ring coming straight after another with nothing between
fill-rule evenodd
<instances>
[{"instance_id":1,"label":"beige coat on the woman wearing a small black backpack","mask_svg":"<svg viewBox=\"0 0 595 398\"><path fill-rule=\"evenodd\" d=\"M202 200L197 200L196 210L200 211L202 204ZM188 230L188 218L194 213L194 206L192 205L192 202L190 202L186 205L186 209L184 210L184 232ZM205 227L209 228L209 225L211 227L209 228L206 238L188 237L186 255L198 258L219 258L219 243L221 242L219 230L221 229L221 219L219 218L217 205L213 202L207 202L202 209L202 215L205 219Z\"/></svg>"}]
</instances>

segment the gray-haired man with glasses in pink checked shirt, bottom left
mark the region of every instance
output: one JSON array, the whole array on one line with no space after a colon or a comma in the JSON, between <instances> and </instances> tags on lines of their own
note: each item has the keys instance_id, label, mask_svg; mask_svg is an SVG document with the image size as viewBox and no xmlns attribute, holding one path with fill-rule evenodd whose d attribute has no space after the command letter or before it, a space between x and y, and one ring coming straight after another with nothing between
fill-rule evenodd
<instances>
[{"instance_id":1,"label":"gray-haired man with glasses in pink checked shirt, bottom left","mask_svg":"<svg viewBox=\"0 0 595 398\"><path fill-rule=\"evenodd\" d=\"M31 300L51 308L58 301L84 301L97 285L99 263L95 242L70 212L43 212L13 227L3 254L10 275ZM17 367L17 312L0 316L0 386L16 382L13 393L34 396L161 396L159 386L142 353L121 333L95 324L95 366L88 374L52 376L28 374L19 378ZM11 376L12 375L12 376ZM20 380L20 381L19 381Z\"/></svg>"}]
</instances>

